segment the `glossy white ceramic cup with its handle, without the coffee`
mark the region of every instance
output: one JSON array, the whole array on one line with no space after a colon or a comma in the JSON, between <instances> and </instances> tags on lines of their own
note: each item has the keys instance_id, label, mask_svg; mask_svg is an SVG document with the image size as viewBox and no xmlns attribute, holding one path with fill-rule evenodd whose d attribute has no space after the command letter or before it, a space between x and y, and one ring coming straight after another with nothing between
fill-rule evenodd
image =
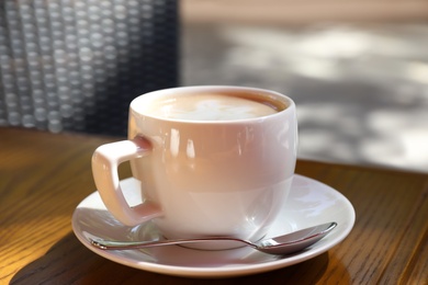
<instances>
[{"instance_id":1,"label":"glossy white ceramic cup with its handle, without the coffee","mask_svg":"<svg viewBox=\"0 0 428 285\"><path fill-rule=\"evenodd\" d=\"M177 119L149 114L159 99L224 93L279 106L244 119ZM297 144L294 102L278 92L240 87L166 89L136 98L128 140L100 146L92 157L97 189L109 212L136 226L153 220L166 238L234 236L258 240L284 206ZM126 203L117 167L129 161L144 202ZM286 217L285 217L286 218Z\"/></svg>"}]
</instances>

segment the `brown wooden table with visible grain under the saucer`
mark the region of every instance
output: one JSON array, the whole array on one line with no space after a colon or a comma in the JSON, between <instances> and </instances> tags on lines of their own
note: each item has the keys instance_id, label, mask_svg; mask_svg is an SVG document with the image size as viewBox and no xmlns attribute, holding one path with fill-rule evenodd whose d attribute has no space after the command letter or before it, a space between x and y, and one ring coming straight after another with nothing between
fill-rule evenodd
<instances>
[{"instance_id":1,"label":"brown wooden table with visible grain under the saucer","mask_svg":"<svg viewBox=\"0 0 428 285\"><path fill-rule=\"evenodd\" d=\"M0 284L201 283L111 262L75 237L72 212L94 191L91 155L112 140L119 139L0 128ZM348 238L296 265L203 284L427 284L426 173L303 160L296 172L353 204Z\"/></svg>"}]
</instances>

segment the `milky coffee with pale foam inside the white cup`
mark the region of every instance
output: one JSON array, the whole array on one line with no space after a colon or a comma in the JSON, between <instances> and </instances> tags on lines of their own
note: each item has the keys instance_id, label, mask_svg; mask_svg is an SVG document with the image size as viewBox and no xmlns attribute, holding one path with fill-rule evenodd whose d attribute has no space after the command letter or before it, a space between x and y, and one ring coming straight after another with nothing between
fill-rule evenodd
<instances>
[{"instance_id":1,"label":"milky coffee with pale foam inside the white cup","mask_svg":"<svg viewBox=\"0 0 428 285\"><path fill-rule=\"evenodd\" d=\"M153 101L145 112L171 119L235 121L271 115L282 109L249 94L188 93Z\"/></svg>"}]
</instances>

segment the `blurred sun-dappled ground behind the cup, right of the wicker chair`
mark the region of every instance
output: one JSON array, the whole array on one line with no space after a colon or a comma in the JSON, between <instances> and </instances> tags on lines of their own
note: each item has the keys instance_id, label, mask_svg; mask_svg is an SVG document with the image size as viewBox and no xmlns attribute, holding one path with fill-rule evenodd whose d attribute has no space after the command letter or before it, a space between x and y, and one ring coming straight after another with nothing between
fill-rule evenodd
<instances>
[{"instance_id":1,"label":"blurred sun-dappled ground behind the cup, right of the wicker chair","mask_svg":"<svg viewBox=\"0 0 428 285\"><path fill-rule=\"evenodd\" d=\"M294 99L301 158L428 172L428 1L182 0L181 84Z\"/></svg>"}]
</instances>

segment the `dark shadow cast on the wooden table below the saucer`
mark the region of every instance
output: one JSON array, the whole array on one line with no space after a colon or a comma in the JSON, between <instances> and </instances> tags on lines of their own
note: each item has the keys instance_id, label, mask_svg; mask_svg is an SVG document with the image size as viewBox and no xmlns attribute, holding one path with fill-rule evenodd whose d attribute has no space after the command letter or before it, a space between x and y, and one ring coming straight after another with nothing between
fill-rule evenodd
<instances>
[{"instance_id":1,"label":"dark shadow cast on the wooden table below the saucer","mask_svg":"<svg viewBox=\"0 0 428 285\"><path fill-rule=\"evenodd\" d=\"M315 284L325 275L328 253L262 274L203 280L203 284ZM339 266L342 266L338 262ZM343 278L341 278L343 281ZM42 258L22 267L11 284L200 284L202 280L174 277L127 267L105 260L85 248L72 232Z\"/></svg>"}]
</instances>

